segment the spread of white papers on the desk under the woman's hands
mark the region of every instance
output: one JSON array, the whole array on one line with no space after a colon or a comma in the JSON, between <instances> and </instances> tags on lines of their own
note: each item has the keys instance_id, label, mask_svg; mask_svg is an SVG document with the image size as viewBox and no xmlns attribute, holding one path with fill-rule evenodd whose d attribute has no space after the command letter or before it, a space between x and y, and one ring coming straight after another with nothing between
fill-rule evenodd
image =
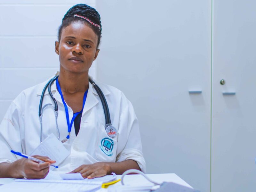
<instances>
[{"instance_id":1,"label":"spread of white papers on the desk under the woman's hands","mask_svg":"<svg viewBox=\"0 0 256 192\"><path fill-rule=\"evenodd\" d=\"M80 176L79 176L80 175ZM97 191L102 183L116 180L116 174L106 175L94 179L81 179L80 173L58 174L49 172L45 179L28 180L17 179L15 182L0 186L0 191L19 192L85 192ZM66 180L67 179L67 180Z\"/></svg>"}]
</instances>

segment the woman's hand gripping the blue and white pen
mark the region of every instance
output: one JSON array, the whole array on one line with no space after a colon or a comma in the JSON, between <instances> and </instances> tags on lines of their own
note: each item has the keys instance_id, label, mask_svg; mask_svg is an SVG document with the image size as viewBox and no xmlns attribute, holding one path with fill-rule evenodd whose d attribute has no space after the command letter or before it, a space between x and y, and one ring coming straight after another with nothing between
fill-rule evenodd
<instances>
[{"instance_id":1,"label":"woman's hand gripping the blue and white pen","mask_svg":"<svg viewBox=\"0 0 256 192\"><path fill-rule=\"evenodd\" d=\"M11 166L13 178L43 179L49 172L49 166L56 161L49 157L34 155L33 157L45 161L37 163L31 159L22 158L14 161Z\"/></svg>"}]
</instances>

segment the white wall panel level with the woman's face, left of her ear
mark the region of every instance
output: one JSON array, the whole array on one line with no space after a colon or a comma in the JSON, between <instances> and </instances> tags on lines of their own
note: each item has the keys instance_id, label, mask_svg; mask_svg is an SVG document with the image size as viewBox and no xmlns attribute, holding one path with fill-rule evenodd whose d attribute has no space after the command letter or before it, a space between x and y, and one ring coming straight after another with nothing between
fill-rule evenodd
<instances>
[{"instance_id":1,"label":"white wall panel level with the woman's face, left of her ear","mask_svg":"<svg viewBox=\"0 0 256 192\"><path fill-rule=\"evenodd\" d=\"M56 37L0 37L2 68L57 68Z\"/></svg>"}]
</instances>

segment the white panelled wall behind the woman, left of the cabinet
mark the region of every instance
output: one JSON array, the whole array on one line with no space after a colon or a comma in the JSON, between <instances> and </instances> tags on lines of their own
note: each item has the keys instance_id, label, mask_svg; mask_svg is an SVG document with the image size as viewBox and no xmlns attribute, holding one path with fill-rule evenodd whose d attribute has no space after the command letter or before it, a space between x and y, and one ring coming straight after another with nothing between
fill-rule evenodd
<instances>
[{"instance_id":1,"label":"white panelled wall behind the woman, left of the cabinet","mask_svg":"<svg viewBox=\"0 0 256 192\"><path fill-rule=\"evenodd\" d=\"M78 3L95 7L95 0L0 0L0 121L22 90L59 69L54 52L57 29ZM90 75L96 76L96 62Z\"/></svg>"}]
</instances>

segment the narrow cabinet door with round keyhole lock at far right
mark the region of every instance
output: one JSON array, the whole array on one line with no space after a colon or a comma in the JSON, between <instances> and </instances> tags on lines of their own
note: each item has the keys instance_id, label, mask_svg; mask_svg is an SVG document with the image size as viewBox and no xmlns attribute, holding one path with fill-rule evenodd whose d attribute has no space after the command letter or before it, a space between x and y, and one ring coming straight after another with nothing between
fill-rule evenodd
<instances>
[{"instance_id":1,"label":"narrow cabinet door with round keyhole lock at far right","mask_svg":"<svg viewBox=\"0 0 256 192\"><path fill-rule=\"evenodd\" d=\"M213 1L212 192L256 190L255 7Z\"/></svg>"}]
</instances>

